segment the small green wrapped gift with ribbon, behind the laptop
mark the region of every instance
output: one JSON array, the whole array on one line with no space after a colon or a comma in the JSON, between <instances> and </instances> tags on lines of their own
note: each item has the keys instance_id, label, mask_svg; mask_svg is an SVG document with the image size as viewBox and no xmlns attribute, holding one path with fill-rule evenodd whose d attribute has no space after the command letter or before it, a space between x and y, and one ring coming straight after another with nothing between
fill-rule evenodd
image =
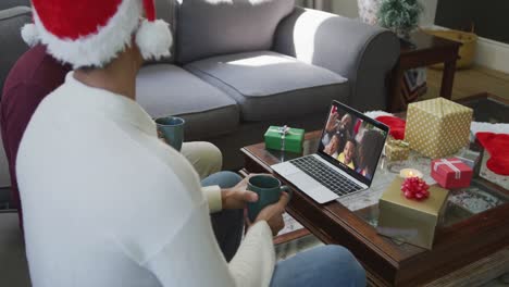
<instances>
[{"instance_id":1,"label":"small green wrapped gift with ribbon, behind the laptop","mask_svg":"<svg viewBox=\"0 0 509 287\"><path fill-rule=\"evenodd\" d=\"M265 148L301 153L305 130L287 126L270 126L266 130Z\"/></svg>"}]
</instances>

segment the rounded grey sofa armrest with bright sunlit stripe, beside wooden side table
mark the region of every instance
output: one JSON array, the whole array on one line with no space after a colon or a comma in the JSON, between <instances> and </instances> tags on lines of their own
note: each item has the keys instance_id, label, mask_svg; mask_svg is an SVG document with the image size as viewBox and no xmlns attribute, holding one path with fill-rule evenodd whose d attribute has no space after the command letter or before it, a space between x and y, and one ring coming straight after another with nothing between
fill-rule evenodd
<instances>
[{"instance_id":1,"label":"rounded grey sofa armrest with bright sunlit stripe, beside wooden side table","mask_svg":"<svg viewBox=\"0 0 509 287\"><path fill-rule=\"evenodd\" d=\"M400 51L394 33L297 7L280 23L273 49L348 78L347 104L360 111L386 109L387 75Z\"/></svg>"}]
</instances>

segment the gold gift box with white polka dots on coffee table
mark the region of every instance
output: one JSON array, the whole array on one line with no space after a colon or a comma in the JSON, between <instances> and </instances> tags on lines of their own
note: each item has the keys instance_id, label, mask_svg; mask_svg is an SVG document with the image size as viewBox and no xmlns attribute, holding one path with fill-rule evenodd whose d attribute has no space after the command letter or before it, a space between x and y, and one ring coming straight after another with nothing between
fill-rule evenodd
<instances>
[{"instance_id":1,"label":"gold gift box with white polka dots on coffee table","mask_svg":"<svg viewBox=\"0 0 509 287\"><path fill-rule=\"evenodd\" d=\"M432 159L454 154L469 144L472 113L444 98L410 103L405 141Z\"/></svg>"}]
</instances>

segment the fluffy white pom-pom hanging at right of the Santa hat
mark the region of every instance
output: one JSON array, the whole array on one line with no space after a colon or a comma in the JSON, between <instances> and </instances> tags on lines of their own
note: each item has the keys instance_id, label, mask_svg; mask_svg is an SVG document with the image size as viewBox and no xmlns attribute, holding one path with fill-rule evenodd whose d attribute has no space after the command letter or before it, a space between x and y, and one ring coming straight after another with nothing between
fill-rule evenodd
<instances>
[{"instance_id":1,"label":"fluffy white pom-pom hanging at right of the Santa hat","mask_svg":"<svg viewBox=\"0 0 509 287\"><path fill-rule=\"evenodd\" d=\"M162 20L141 22L136 33L136 45L145 60L159 60L171 55L170 47L172 47L173 38L169 26L170 24Z\"/></svg>"}]
</instances>

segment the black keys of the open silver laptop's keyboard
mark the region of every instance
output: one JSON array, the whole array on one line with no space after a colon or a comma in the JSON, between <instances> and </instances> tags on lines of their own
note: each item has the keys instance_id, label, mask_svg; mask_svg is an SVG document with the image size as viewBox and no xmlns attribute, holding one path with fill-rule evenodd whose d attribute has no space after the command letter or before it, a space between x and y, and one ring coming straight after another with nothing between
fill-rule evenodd
<instances>
[{"instance_id":1,"label":"black keys of the open silver laptop's keyboard","mask_svg":"<svg viewBox=\"0 0 509 287\"><path fill-rule=\"evenodd\" d=\"M290 162L338 196L345 196L362 189L362 187L314 157L299 158Z\"/></svg>"}]
</instances>

